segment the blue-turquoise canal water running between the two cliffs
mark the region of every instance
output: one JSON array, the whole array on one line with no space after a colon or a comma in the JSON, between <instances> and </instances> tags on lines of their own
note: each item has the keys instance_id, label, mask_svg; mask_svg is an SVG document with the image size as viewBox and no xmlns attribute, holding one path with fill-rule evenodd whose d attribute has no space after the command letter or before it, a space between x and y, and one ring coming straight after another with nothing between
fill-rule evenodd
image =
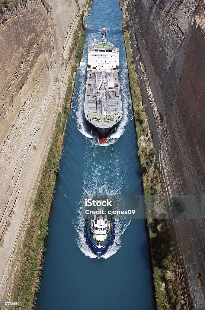
<instances>
[{"instance_id":1,"label":"blue-turquoise canal water running between the two cliffs","mask_svg":"<svg viewBox=\"0 0 205 310\"><path fill-rule=\"evenodd\" d=\"M108 39L120 48L124 110L122 121L108 143L100 145L97 136L93 142L99 193L105 190L113 147L106 194L142 194L118 0L93 0L86 22L84 55L68 116L36 309L152 310L155 305L145 220L117 220L115 242L100 259L83 237L85 222L80 217L80 195L97 193L91 131L83 117L83 101L88 46L99 27L109 27ZM97 38L100 37L97 32Z\"/></svg>"}]
</instances>

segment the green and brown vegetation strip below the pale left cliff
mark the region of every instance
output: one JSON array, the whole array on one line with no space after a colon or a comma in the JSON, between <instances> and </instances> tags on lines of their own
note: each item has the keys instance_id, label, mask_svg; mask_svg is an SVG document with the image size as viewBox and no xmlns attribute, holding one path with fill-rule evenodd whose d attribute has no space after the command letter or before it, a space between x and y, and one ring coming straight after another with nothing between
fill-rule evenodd
<instances>
[{"instance_id":1,"label":"green and brown vegetation strip below the pale left cliff","mask_svg":"<svg viewBox=\"0 0 205 310\"><path fill-rule=\"evenodd\" d=\"M33 308L34 295L39 288L41 261L43 258L43 251L45 250L45 239L48 234L48 218L51 199L54 193L58 170L60 169L59 161L61 157L63 135L70 110L76 76L75 72L77 70L77 63L82 57L83 44L85 41L85 31L81 21L79 21L77 29L78 37L76 38L75 32L72 42L73 53L69 58L70 66L72 65L72 67L67 82L68 86L62 112L58 113L49 152L41 172L30 221L20 252L21 261L19 262L19 269L14 279L15 285L12 290L12 300L23 302L21 308L25 310ZM18 308L16 307L16 309Z\"/></svg>"}]
</instances>

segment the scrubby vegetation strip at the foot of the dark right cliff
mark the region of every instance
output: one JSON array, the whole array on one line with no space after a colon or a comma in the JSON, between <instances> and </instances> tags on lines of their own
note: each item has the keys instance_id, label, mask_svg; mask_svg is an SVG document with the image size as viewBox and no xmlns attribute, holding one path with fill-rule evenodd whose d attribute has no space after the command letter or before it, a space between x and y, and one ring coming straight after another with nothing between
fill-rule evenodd
<instances>
[{"instance_id":1,"label":"scrubby vegetation strip at the foot of the dark right cliff","mask_svg":"<svg viewBox=\"0 0 205 310\"><path fill-rule=\"evenodd\" d=\"M120 0L122 7L122 1ZM175 277L177 266L174 263L171 246L171 235L168 222L164 219L152 219L153 203L150 195L155 194L155 204L159 201L161 188L159 175L155 165L156 150L152 147L146 104L142 104L140 91L141 76L136 73L130 47L127 26L123 19L124 39L128 63L130 90L132 96L135 124L138 136L139 158L143 177L144 200L147 213L150 248L152 255L153 279L155 285L156 307L163 310L179 310L182 304L181 287L178 277Z\"/></svg>"}]
</instances>

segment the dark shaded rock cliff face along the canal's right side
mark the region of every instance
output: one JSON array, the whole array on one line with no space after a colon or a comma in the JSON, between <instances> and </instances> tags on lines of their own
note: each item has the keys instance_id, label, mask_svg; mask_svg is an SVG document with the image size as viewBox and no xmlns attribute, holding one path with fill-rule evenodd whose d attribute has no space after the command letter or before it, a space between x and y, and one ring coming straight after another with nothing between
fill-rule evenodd
<instances>
[{"instance_id":1,"label":"dark shaded rock cliff face along the canal's right side","mask_svg":"<svg viewBox=\"0 0 205 310\"><path fill-rule=\"evenodd\" d=\"M204 194L204 0L124 4L164 194ZM204 220L175 220L174 227L189 307L204 309Z\"/></svg>"}]
</instances>

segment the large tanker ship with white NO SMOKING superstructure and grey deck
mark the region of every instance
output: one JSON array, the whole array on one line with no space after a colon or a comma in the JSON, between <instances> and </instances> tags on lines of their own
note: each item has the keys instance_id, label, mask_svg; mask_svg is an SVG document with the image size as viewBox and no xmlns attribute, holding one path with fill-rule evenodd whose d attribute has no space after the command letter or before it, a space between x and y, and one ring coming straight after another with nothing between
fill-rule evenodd
<instances>
[{"instance_id":1,"label":"large tanker ship with white NO SMOKING superstructure and grey deck","mask_svg":"<svg viewBox=\"0 0 205 310\"><path fill-rule=\"evenodd\" d=\"M119 81L119 48L106 40L108 28L100 28L101 42L88 48L84 116L105 143L107 135L122 119Z\"/></svg>"}]
</instances>

